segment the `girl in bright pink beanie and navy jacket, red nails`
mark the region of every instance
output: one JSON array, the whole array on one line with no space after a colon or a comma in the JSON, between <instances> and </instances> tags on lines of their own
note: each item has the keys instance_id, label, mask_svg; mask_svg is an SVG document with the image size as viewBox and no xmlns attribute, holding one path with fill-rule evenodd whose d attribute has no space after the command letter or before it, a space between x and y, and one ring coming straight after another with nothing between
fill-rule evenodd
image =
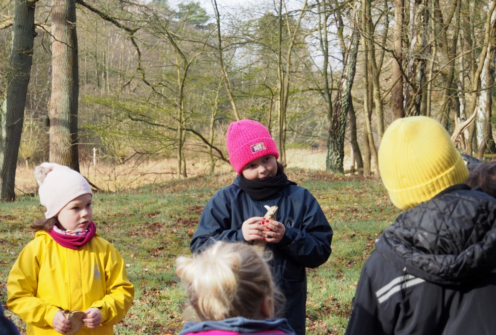
<instances>
[{"instance_id":1,"label":"girl in bright pink beanie and navy jacket, red nails","mask_svg":"<svg viewBox=\"0 0 496 335\"><path fill-rule=\"evenodd\" d=\"M226 144L238 176L207 203L189 248L200 252L218 240L266 243L275 282L286 296L285 317L296 334L305 334L305 268L327 261L332 229L310 192L288 180L262 124L231 123ZM277 220L263 218L266 206L278 207Z\"/></svg>"}]
</instances>

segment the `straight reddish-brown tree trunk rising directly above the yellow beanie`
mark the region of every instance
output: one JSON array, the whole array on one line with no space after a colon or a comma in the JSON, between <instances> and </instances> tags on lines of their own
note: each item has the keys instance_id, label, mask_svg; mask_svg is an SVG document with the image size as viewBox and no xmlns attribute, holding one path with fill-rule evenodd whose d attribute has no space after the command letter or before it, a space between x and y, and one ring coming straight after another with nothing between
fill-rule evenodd
<instances>
[{"instance_id":1,"label":"straight reddish-brown tree trunk rising directly above the yellow beanie","mask_svg":"<svg viewBox=\"0 0 496 335\"><path fill-rule=\"evenodd\" d=\"M391 90L392 118L396 120L405 116L403 109L403 10L404 0L394 0L394 42L393 42L393 88Z\"/></svg>"}]
</instances>

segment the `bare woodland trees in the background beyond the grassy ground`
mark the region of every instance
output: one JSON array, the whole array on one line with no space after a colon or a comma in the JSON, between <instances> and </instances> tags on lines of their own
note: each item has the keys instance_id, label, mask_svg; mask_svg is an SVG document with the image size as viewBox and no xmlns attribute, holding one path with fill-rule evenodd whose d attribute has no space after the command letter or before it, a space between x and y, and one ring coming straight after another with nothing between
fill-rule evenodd
<instances>
[{"instance_id":1,"label":"bare woodland trees in the background beyond the grassy ground","mask_svg":"<svg viewBox=\"0 0 496 335\"><path fill-rule=\"evenodd\" d=\"M492 157L488 1L2 0L0 197L15 198L18 163L48 159L89 174L95 157L108 190L131 172L212 173L241 118L269 129L284 165L317 150L321 167L369 177L384 129L411 115Z\"/></svg>"}]
</instances>

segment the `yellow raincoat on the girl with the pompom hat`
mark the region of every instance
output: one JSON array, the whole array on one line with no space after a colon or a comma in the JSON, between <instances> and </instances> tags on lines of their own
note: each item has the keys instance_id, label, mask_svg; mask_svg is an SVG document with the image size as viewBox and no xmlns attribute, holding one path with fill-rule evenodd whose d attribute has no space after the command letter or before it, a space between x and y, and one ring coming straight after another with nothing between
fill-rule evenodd
<instances>
[{"instance_id":1,"label":"yellow raincoat on the girl with the pompom hat","mask_svg":"<svg viewBox=\"0 0 496 335\"><path fill-rule=\"evenodd\" d=\"M72 250L44 230L19 254L7 281L7 306L27 323L28 335L55 335L54 316L62 309L100 308L102 324L83 326L77 335L112 335L134 297L124 261L108 241L95 234Z\"/></svg>"}]
</instances>

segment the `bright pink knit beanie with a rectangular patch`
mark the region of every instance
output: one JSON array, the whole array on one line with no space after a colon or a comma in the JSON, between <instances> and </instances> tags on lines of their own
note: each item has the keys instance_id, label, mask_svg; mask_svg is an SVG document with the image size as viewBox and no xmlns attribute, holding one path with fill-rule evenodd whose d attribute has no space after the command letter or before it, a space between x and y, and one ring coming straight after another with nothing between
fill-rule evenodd
<instances>
[{"instance_id":1,"label":"bright pink knit beanie with a rectangular patch","mask_svg":"<svg viewBox=\"0 0 496 335\"><path fill-rule=\"evenodd\" d=\"M257 158L274 155L279 158L276 142L263 124L244 119L229 125L226 139L229 161L241 174L241 170Z\"/></svg>"}]
</instances>

